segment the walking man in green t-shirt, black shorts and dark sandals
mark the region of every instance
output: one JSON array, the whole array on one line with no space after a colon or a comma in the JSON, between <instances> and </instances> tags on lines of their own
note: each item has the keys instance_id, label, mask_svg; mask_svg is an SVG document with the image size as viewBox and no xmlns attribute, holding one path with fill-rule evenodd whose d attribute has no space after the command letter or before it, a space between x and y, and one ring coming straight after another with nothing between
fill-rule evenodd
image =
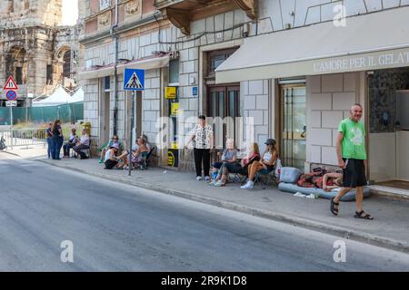
<instances>
[{"instance_id":1,"label":"walking man in green t-shirt, black shorts and dark sandals","mask_svg":"<svg viewBox=\"0 0 409 290\"><path fill-rule=\"evenodd\" d=\"M361 122L363 108L355 103L349 111L349 118L341 121L336 140L338 165L343 169L343 189L331 199L331 212L338 216L340 199L351 189L356 189L356 212L354 218L374 219L364 212L364 186L366 185L365 130Z\"/></svg>"}]
</instances>

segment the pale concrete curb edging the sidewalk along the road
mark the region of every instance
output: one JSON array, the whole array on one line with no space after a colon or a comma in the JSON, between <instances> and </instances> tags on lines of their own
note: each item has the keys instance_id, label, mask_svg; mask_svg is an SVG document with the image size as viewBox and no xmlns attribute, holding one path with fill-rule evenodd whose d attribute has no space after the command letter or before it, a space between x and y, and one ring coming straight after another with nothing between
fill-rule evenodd
<instances>
[{"instance_id":1,"label":"pale concrete curb edging the sidewalk along the road","mask_svg":"<svg viewBox=\"0 0 409 290\"><path fill-rule=\"evenodd\" d=\"M290 215L281 214L281 213L277 213L273 211L239 205L233 202L224 201L220 199L201 197L201 196L195 195L190 192L185 192L182 190L175 190L175 189L166 189L160 186L155 186L153 184L149 184L149 183L145 183L145 182L141 182L137 180L132 180L131 182L129 182L129 180L127 179L122 179L122 178L118 179L117 177L112 178L110 176L106 176L103 173L89 172L83 169L76 169L76 168L71 168L69 166L63 166L61 164L51 164L45 160L35 160L35 161L39 161L47 165L55 166L57 168L75 170L76 172L85 173L90 176L108 179L108 180L112 180L116 182L121 182L127 185L132 185L138 188L142 188L142 189L154 190L154 191L165 193L165 194L172 195L175 197L190 199L193 201L201 202L201 203L215 206L218 208L226 208L226 209L234 210L234 211L252 215L258 218L268 218L274 221L284 222L294 227L304 227L304 228L311 229L314 231L322 232L324 234L330 234L335 237L342 237L344 239L351 239L354 241L364 242L366 244L370 244L376 247L385 247L385 248L393 249L395 251L403 252L405 254L409 253L409 245L405 245L405 242L403 241L397 241L397 240L394 240L388 237L374 236L372 234L359 232L359 231L352 230L346 227L336 227L333 225L328 225L328 224L320 223L317 221L308 220L306 218L297 218L297 217L293 217Z\"/></svg>"}]
</instances>

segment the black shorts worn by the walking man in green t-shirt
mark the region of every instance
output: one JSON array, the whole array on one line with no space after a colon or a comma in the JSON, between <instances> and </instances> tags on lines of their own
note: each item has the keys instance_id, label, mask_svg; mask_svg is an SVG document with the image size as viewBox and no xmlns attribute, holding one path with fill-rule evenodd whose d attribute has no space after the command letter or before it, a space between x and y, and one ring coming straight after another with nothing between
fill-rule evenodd
<instances>
[{"instance_id":1,"label":"black shorts worn by the walking man in green t-shirt","mask_svg":"<svg viewBox=\"0 0 409 290\"><path fill-rule=\"evenodd\" d=\"M366 185L364 160L346 160L346 168L343 169L344 188L355 189Z\"/></svg>"}]
</instances>

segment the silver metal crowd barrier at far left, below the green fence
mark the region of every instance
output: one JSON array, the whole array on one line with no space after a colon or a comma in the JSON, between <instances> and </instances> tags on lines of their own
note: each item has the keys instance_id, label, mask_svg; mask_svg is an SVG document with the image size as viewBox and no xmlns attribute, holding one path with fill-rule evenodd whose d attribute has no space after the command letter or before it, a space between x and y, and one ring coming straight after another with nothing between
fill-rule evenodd
<instances>
[{"instance_id":1,"label":"silver metal crowd barrier at far left, below the green fence","mask_svg":"<svg viewBox=\"0 0 409 290\"><path fill-rule=\"evenodd\" d=\"M15 129L0 130L0 140L5 142L5 150L14 147L26 147L46 144L46 129Z\"/></svg>"}]
</instances>

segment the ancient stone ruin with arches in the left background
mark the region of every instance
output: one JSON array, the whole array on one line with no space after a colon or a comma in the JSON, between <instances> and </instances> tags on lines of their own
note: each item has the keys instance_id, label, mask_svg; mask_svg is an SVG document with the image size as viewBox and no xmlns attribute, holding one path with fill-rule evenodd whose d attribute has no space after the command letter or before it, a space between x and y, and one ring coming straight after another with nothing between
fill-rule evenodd
<instances>
[{"instance_id":1,"label":"ancient stone ruin with arches in the left background","mask_svg":"<svg viewBox=\"0 0 409 290\"><path fill-rule=\"evenodd\" d=\"M81 25L61 22L61 0L1 2L0 82L15 78L19 106L29 106L31 98L50 94L59 84L75 87ZM5 92L0 100L4 106Z\"/></svg>"}]
</instances>

